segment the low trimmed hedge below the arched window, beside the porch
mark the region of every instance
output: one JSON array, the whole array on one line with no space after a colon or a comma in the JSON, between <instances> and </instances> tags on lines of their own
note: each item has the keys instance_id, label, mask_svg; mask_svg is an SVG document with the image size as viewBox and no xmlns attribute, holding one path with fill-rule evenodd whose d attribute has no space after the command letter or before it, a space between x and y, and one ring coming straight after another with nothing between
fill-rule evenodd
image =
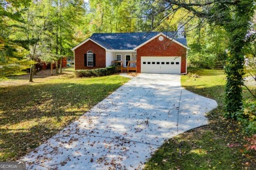
<instances>
[{"instance_id":1,"label":"low trimmed hedge below the arched window, beside the porch","mask_svg":"<svg viewBox=\"0 0 256 170\"><path fill-rule=\"evenodd\" d=\"M91 70L75 70L76 77L89 77L89 76L106 76L116 73L116 66L110 66L100 69L91 69Z\"/></svg>"}]
</instances>

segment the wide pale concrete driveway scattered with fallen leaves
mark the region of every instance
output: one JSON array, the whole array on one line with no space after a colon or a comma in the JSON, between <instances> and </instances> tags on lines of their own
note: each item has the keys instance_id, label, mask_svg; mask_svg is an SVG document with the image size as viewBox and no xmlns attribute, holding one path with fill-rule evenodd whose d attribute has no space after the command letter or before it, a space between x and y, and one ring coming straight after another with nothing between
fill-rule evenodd
<instances>
[{"instance_id":1,"label":"wide pale concrete driveway scattered with fallen leaves","mask_svg":"<svg viewBox=\"0 0 256 170\"><path fill-rule=\"evenodd\" d=\"M207 124L215 107L184 90L181 75L140 74L22 160L28 169L142 169L166 139Z\"/></svg>"}]
</instances>

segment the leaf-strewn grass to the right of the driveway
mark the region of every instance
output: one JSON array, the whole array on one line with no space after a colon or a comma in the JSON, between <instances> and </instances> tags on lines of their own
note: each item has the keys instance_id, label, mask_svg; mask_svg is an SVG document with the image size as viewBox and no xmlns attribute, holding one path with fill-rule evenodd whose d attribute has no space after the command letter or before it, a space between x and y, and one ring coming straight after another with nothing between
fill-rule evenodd
<instances>
[{"instance_id":1,"label":"leaf-strewn grass to the right of the driveway","mask_svg":"<svg viewBox=\"0 0 256 170\"><path fill-rule=\"evenodd\" d=\"M209 125L169 139L145 169L256 169L255 150L247 151L243 126L223 118L225 76L221 70L195 69L181 77L182 86L215 99L219 107L207 114ZM248 92L244 97L252 100Z\"/></svg>"}]
</instances>

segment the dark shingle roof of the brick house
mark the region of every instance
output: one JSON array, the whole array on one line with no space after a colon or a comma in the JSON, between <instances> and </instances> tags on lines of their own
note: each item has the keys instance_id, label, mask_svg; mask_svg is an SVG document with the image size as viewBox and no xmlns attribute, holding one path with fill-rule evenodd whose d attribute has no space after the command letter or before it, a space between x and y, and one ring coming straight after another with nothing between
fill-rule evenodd
<instances>
[{"instance_id":1,"label":"dark shingle roof of the brick house","mask_svg":"<svg viewBox=\"0 0 256 170\"><path fill-rule=\"evenodd\" d=\"M90 39L109 50L133 50L159 33L163 33L186 46L186 38L178 39L177 32L94 33Z\"/></svg>"}]
</instances>

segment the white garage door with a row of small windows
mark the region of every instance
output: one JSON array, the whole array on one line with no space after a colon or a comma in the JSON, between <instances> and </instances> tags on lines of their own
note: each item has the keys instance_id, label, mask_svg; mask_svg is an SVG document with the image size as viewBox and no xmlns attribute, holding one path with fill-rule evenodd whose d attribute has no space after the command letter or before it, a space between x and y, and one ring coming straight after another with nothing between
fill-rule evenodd
<instances>
[{"instance_id":1,"label":"white garage door with a row of small windows","mask_svg":"<svg viewBox=\"0 0 256 170\"><path fill-rule=\"evenodd\" d=\"M141 73L181 74L181 57L141 57Z\"/></svg>"}]
</instances>

